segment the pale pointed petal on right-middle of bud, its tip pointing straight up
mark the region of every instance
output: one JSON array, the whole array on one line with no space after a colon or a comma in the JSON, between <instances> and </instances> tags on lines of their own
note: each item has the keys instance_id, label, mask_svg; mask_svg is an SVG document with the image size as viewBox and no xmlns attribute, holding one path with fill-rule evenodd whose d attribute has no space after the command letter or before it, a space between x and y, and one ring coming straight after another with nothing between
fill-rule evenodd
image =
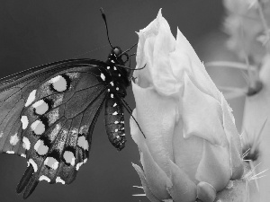
<instances>
[{"instance_id":1,"label":"pale pointed petal on right-middle of bud, its tip pointing straight up","mask_svg":"<svg viewBox=\"0 0 270 202\"><path fill-rule=\"evenodd\" d=\"M213 145L228 145L222 127L222 111L218 101L201 92L184 74L183 94L184 138L200 136Z\"/></svg>"}]
</instances>

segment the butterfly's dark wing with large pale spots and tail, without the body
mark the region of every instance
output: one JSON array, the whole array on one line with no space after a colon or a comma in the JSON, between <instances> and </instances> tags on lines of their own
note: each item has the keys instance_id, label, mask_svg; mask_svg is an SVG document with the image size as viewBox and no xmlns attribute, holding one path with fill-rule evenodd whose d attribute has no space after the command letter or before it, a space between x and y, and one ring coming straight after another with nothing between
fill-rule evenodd
<instances>
[{"instance_id":1,"label":"butterfly's dark wing with large pale spots and tail, without the body","mask_svg":"<svg viewBox=\"0 0 270 202\"><path fill-rule=\"evenodd\" d=\"M38 70L31 73L36 75L31 79L16 76L21 83L9 78L5 84L9 88L3 86L0 92L4 111L0 149L28 160L29 167L17 188L18 192L24 189L24 198L40 180L69 184L88 158L94 123L107 96L100 75L110 75L103 63L93 60L90 65L87 60L76 60L65 67Z\"/></svg>"}]
</instances>

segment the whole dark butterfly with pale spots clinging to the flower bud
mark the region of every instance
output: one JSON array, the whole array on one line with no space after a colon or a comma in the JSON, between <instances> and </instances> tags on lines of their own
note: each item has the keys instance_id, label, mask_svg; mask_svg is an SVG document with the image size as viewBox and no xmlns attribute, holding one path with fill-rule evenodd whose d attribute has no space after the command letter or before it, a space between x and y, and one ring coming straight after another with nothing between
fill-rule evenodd
<instances>
[{"instance_id":1,"label":"whole dark butterfly with pale spots clinging to the flower bud","mask_svg":"<svg viewBox=\"0 0 270 202\"><path fill-rule=\"evenodd\" d=\"M112 47L103 11L102 15ZM40 180L62 184L75 180L88 159L103 106L110 142L118 150L125 146L124 108L131 113L124 101L130 85L131 68L125 66L130 49L112 47L105 62L68 59L0 79L0 152L27 159L17 186L23 198Z\"/></svg>"}]
</instances>

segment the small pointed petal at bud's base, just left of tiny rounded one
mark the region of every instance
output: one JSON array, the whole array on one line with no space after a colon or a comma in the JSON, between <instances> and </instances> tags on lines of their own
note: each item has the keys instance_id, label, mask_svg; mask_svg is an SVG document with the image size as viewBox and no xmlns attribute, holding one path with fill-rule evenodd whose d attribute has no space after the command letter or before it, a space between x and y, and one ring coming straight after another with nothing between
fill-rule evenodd
<instances>
[{"instance_id":1,"label":"small pointed petal at bud's base, just left of tiny rounded one","mask_svg":"<svg viewBox=\"0 0 270 202\"><path fill-rule=\"evenodd\" d=\"M168 192L175 202L194 202L196 199L196 185L174 162L169 160L171 168L172 187Z\"/></svg>"}]
</instances>

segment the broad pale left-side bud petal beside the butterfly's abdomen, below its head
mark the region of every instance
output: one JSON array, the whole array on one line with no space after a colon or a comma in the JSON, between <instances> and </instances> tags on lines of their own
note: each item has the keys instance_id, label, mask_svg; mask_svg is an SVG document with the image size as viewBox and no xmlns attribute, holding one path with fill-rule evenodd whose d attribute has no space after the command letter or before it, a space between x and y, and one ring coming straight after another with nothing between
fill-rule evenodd
<instances>
[{"instance_id":1,"label":"broad pale left-side bud petal beside the butterfly's abdomen, below its head","mask_svg":"<svg viewBox=\"0 0 270 202\"><path fill-rule=\"evenodd\" d=\"M132 84L136 101L136 119L146 135L146 144L158 166L169 175L168 160L173 159L172 138L177 119L174 98L160 96L153 88ZM137 125L130 125L132 127ZM131 133L136 142L138 138ZM133 137L134 136L134 137ZM142 136L142 135L140 135ZM138 142L136 142L139 144Z\"/></svg>"}]
</instances>

